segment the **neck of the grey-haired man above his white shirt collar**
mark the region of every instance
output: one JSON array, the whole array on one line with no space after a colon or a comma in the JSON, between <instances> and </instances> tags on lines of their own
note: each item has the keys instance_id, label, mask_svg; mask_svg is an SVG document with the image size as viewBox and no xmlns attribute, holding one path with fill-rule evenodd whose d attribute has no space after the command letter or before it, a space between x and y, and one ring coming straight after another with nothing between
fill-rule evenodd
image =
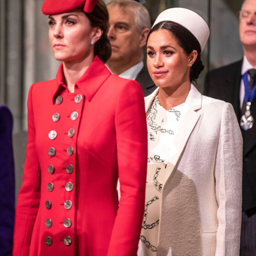
<instances>
[{"instance_id":1,"label":"neck of the grey-haired man above his white shirt collar","mask_svg":"<svg viewBox=\"0 0 256 256\"><path fill-rule=\"evenodd\" d=\"M107 62L107 67L111 70L112 73L115 75L120 75L129 68L133 67L134 65L138 64L143 60L143 53L139 54L136 57L130 57L127 59L122 60L111 60L111 58Z\"/></svg>"}]
</instances>

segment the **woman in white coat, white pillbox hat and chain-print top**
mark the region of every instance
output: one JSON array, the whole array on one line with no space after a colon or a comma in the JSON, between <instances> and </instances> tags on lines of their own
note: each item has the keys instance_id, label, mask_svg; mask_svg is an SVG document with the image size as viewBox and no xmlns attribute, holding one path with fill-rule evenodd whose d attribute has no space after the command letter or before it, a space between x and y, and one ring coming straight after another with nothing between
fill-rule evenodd
<instances>
[{"instance_id":1,"label":"woman in white coat, white pillbox hat and chain-print top","mask_svg":"<svg viewBox=\"0 0 256 256\"><path fill-rule=\"evenodd\" d=\"M146 204L139 256L239 255L242 137L231 104L191 84L204 65L205 21L188 9L162 12L147 38L158 88L145 98Z\"/></svg>"}]
</instances>

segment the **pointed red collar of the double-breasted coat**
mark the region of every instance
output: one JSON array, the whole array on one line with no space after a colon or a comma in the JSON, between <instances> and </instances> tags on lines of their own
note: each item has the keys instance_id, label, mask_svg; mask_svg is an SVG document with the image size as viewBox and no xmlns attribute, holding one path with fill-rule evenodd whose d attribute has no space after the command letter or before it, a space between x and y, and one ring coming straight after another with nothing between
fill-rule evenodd
<instances>
[{"instance_id":1,"label":"pointed red collar of the double-breasted coat","mask_svg":"<svg viewBox=\"0 0 256 256\"><path fill-rule=\"evenodd\" d=\"M95 56L88 70L76 81L77 85L82 93L85 95L88 101L93 99L94 94L101 87L105 80L111 75L110 71L105 67L104 63ZM65 91L67 86L63 81L63 64L60 64L59 70L56 76L56 88L54 89L53 104L56 97L59 96L62 91Z\"/></svg>"}]
</instances>

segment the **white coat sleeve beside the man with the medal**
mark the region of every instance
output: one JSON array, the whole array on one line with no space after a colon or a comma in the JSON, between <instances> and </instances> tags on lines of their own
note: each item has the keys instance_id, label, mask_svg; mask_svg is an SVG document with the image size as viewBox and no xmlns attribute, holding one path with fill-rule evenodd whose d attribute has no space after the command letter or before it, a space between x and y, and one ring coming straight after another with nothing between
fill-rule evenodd
<instances>
[{"instance_id":1,"label":"white coat sleeve beside the man with the medal","mask_svg":"<svg viewBox=\"0 0 256 256\"><path fill-rule=\"evenodd\" d=\"M222 109L215 180L218 202L215 255L238 256L242 213L242 135L229 103Z\"/></svg>"}]
</instances>

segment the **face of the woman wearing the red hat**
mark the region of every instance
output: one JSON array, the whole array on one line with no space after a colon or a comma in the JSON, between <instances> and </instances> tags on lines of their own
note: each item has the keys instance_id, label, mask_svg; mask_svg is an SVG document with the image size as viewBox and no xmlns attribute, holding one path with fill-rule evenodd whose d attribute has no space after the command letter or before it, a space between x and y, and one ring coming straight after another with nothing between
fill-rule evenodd
<instances>
[{"instance_id":1,"label":"face of the woman wearing the red hat","mask_svg":"<svg viewBox=\"0 0 256 256\"><path fill-rule=\"evenodd\" d=\"M93 28L83 10L50 15L49 39L57 60L80 62L93 54L94 46L102 35L100 28Z\"/></svg>"}]
</instances>

